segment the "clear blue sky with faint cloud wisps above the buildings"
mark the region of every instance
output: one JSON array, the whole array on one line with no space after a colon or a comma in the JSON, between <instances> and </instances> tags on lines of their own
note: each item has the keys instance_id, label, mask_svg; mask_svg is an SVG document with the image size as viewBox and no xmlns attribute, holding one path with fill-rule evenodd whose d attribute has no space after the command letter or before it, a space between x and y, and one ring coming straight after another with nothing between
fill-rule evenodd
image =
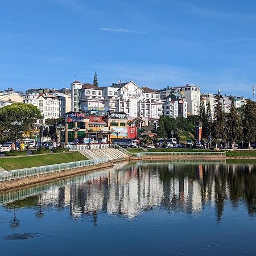
<instances>
[{"instance_id":1,"label":"clear blue sky with faint cloud wisps above the buildings","mask_svg":"<svg viewBox=\"0 0 256 256\"><path fill-rule=\"evenodd\" d=\"M0 0L0 90L198 84L251 97L253 0Z\"/></svg>"}]
</instances>

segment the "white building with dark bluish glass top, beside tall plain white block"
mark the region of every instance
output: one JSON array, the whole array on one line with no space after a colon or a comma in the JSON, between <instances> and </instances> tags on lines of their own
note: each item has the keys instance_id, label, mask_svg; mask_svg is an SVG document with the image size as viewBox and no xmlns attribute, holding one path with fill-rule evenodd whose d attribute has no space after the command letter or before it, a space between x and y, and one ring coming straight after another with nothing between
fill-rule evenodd
<instances>
[{"instance_id":1,"label":"white building with dark bluish glass top, beside tall plain white block","mask_svg":"<svg viewBox=\"0 0 256 256\"><path fill-rule=\"evenodd\" d=\"M163 98L163 114L169 117L188 117L187 101L184 94L177 92L170 93L167 97Z\"/></svg>"}]
</instances>

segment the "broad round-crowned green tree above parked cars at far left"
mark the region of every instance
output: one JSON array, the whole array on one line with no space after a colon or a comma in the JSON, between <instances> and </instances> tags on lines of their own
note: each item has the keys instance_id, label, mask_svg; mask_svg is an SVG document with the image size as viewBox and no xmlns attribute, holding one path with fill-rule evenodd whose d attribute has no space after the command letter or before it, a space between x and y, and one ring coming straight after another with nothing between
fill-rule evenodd
<instances>
[{"instance_id":1,"label":"broad round-crowned green tree above parked cars at far left","mask_svg":"<svg viewBox=\"0 0 256 256\"><path fill-rule=\"evenodd\" d=\"M42 114L36 106L32 104L14 103L0 109L0 127L5 131L4 140L15 140L16 129L26 133L30 131L32 126L38 119L42 119ZM18 121L19 126L11 125L12 122ZM17 137L22 138L22 133L18 133Z\"/></svg>"}]
</instances>

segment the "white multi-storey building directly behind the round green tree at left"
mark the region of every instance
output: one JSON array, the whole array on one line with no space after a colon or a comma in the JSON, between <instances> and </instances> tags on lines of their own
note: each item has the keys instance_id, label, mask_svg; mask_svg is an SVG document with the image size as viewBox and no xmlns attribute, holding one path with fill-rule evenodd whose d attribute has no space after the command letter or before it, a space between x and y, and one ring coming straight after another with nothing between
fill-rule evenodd
<instances>
[{"instance_id":1,"label":"white multi-storey building directly behind the round green tree at left","mask_svg":"<svg viewBox=\"0 0 256 256\"><path fill-rule=\"evenodd\" d=\"M48 97L46 93L24 94L23 102L38 107L44 119L60 118L60 101L58 97Z\"/></svg>"}]
</instances>

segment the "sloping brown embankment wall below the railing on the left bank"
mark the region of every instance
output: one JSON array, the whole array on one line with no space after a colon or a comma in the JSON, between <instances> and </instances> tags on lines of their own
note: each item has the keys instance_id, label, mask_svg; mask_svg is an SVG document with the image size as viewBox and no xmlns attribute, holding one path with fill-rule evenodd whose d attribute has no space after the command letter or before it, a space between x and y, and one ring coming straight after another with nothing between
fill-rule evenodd
<instances>
[{"instance_id":1,"label":"sloping brown embankment wall below the railing on the left bank","mask_svg":"<svg viewBox=\"0 0 256 256\"><path fill-rule=\"evenodd\" d=\"M24 187L24 186L35 184L35 183L42 183L45 181L51 181L51 180L69 177L69 176L81 175L85 172L97 171L103 168L111 168L113 166L114 166L113 163L108 162L108 163L96 164L94 166L86 166L86 167L76 168L71 170L52 172L51 174L42 174L42 175L25 177L22 179L4 181L0 183L0 191L20 188L20 187Z\"/></svg>"}]
</instances>

